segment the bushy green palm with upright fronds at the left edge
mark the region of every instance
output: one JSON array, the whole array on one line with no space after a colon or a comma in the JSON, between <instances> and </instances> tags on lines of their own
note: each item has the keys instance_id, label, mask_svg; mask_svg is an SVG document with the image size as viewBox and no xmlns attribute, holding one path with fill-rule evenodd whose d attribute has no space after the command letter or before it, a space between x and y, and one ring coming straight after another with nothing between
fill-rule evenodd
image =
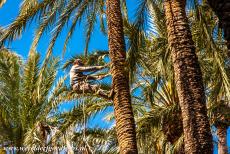
<instances>
[{"instance_id":1,"label":"bushy green palm with upright fronds at the left edge","mask_svg":"<svg viewBox=\"0 0 230 154\"><path fill-rule=\"evenodd\" d=\"M50 58L48 65L40 67L37 53L29 55L26 64L5 49L0 54L1 141L22 147L30 140L44 146L50 131L46 118L65 92L64 79L54 86L58 59Z\"/></svg>"}]
</instances>

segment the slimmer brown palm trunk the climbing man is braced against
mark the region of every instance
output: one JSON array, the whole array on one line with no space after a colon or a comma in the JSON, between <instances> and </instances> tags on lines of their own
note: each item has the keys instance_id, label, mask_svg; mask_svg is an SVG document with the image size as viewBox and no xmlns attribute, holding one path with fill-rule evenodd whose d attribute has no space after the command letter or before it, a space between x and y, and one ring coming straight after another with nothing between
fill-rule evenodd
<instances>
[{"instance_id":1,"label":"slimmer brown palm trunk the climbing man is braced against","mask_svg":"<svg viewBox=\"0 0 230 154\"><path fill-rule=\"evenodd\" d=\"M137 153L135 122L131 106L129 76L126 66L123 21L119 0L106 1L106 14L111 58L113 103L116 132L121 154Z\"/></svg>"}]
</instances>

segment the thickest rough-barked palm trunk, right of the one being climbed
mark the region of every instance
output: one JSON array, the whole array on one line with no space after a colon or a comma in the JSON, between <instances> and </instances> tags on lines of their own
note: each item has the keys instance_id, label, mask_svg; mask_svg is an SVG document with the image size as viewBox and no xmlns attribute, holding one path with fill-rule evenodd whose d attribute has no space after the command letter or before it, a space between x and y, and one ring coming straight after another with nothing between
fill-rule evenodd
<instances>
[{"instance_id":1,"label":"thickest rough-barked palm trunk, right of the one being climbed","mask_svg":"<svg viewBox=\"0 0 230 154\"><path fill-rule=\"evenodd\" d=\"M212 154L202 74L185 13L185 0L165 0L168 42L182 110L185 153Z\"/></svg>"}]
</instances>

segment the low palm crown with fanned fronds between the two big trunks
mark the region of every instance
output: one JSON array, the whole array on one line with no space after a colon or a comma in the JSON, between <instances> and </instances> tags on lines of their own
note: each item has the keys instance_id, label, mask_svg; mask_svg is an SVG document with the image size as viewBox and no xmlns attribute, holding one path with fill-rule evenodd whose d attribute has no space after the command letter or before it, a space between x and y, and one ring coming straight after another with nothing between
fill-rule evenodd
<instances>
[{"instance_id":1,"label":"low palm crown with fanned fronds between the two big trunks","mask_svg":"<svg viewBox=\"0 0 230 154\"><path fill-rule=\"evenodd\" d=\"M143 153L184 153L182 117L174 83L163 78L154 80L155 90L148 82L142 84L142 101L149 108L137 117L139 149Z\"/></svg>"}]
</instances>

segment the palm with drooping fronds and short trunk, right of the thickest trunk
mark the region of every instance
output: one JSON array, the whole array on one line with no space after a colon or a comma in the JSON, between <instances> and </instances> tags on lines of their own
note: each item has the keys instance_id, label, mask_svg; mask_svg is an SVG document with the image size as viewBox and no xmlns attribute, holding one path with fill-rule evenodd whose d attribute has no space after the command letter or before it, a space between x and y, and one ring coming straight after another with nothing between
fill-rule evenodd
<instances>
[{"instance_id":1,"label":"palm with drooping fronds and short trunk, right of the thickest trunk","mask_svg":"<svg viewBox=\"0 0 230 154\"><path fill-rule=\"evenodd\" d=\"M199 55L204 72L210 122L217 127L219 153L227 153L225 135L229 125L229 116L227 115L229 115L230 100L228 50L222 43L222 31L215 32L218 25L210 7L203 3L192 12L194 15L190 18L190 22L194 23L192 32L195 34L193 35L195 44L198 50L206 50L205 54L199 52ZM198 33L204 35L201 36ZM210 67L210 64L213 67Z\"/></svg>"}]
</instances>

